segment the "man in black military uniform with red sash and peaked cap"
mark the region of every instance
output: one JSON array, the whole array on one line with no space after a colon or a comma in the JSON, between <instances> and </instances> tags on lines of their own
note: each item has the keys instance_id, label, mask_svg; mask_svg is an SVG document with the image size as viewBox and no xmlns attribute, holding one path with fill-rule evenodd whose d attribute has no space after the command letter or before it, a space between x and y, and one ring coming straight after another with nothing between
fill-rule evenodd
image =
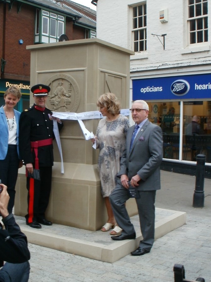
<instances>
[{"instance_id":1,"label":"man in black military uniform with red sash and peaked cap","mask_svg":"<svg viewBox=\"0 0 211 282\"><path fill-rule=\"evenodd\" d=\"M45 107L50 90L43 84L31 87L35 103L21 113L19 121L19 151L26 166L28 190L28 214L25 218L26 224L32 228L41 228L41 224L52 225L45 218L53 166L53 118L51 110ZM61 129L63 124L59 119L57 124ZM28 177L33 169L40 170L40 180Z\"/></svg>"}]
</instances>

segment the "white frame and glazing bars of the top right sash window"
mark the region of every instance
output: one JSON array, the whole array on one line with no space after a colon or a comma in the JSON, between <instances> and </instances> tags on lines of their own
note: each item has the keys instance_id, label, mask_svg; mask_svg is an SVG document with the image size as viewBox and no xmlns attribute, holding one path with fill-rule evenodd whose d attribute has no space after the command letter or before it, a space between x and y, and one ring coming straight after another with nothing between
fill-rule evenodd
<instances>
[{"instance_id":1,"label":"white frame and glazing bars of the top right sash window","mask_svg":"<svg viewBox=\"0 0 211 282\"><path fill-rule=\"evenodd\" d=\"M189 46L198 46L199 44L208 43L208 12L203 14L203 4L207 3L208 0L187 0L187 30L188 30L188 44ZM197 14L197 5L201 4L202 15ZM194 8L194 16L190 16L190 9ZM202 28L197 27L199 20L202 20ZM191 25L195 24L195 29ZM192 30L191 30L192 29ZM195 34L195 42L191 41L191 34ZM202 40L199 38L199 34L202 34Z\"/></svg>"}]
</instances>

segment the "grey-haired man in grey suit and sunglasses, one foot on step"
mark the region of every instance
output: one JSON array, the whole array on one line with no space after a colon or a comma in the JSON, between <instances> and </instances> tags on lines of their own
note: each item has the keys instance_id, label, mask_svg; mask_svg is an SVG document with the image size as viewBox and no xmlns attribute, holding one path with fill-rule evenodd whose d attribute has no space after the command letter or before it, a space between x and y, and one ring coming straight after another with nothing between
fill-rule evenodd
<instances>
[{"instance_id":1,"label":"grey-haired man in grey suit and sunglasses, one foot on step","mask_svg":"<svg viewBox=\"0 0 211 282\"><path fill-rule=\"evenodd\" d=\"M135 125L127 132L126 149L122 155L116 188L110 195L111 206L122 234L113 240L135 239L136 233L128 216L125 202L129 199L128 181L137 192L136 203L143 240L133 256L149 253L154 243L155 194L160 189L160 163L163 157L162 130L148 120L149 106L143 100L133 103Z\"/></svg>"}]
</instances>

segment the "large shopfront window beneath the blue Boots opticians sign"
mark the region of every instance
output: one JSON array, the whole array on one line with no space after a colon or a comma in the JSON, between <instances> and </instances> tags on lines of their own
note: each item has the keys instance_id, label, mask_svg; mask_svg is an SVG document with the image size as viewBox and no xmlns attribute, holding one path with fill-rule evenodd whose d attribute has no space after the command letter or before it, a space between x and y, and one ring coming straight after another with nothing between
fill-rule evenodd
<instances>
[{"instance_id":1,"label":"large shopfront window beneath the blue Boots opticians sign","mask_svg":"<svg viewBox=\"0 0 211 282\"><path fill-rule=\"evenodd\" d=\"M164 159L196 161L197 154L204 154L211 163L211 101L148 104L149 120L163 132Z\"/></svg>"}]
</instances>

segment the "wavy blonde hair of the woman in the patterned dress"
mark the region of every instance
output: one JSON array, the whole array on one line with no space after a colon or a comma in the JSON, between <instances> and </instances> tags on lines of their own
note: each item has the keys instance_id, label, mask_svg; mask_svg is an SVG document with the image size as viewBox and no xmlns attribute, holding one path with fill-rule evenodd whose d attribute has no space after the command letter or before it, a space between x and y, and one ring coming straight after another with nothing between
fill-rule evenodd
<instances>
[{"instance_id":1,"label":"wavy blonde hair of the woman in the patterned dress","mask_svg":"<svg viewBox=\"0 0 211 282\"><path fill-rule=\"evenodd\" d=\"M120 102L113 93L104 93L97 100L98 107L105 107L107 112L113 115L120 113Z\"/></svg>"}]
</instances>

